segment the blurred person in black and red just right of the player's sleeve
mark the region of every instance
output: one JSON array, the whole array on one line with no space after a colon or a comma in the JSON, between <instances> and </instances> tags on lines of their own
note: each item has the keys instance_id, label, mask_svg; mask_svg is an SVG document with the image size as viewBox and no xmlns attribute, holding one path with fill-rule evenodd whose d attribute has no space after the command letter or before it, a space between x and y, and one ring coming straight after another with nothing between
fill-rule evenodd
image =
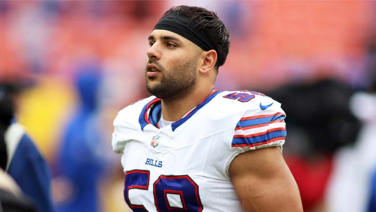
<instances>
[{"instance_id":1,"label":"blurred person in black and red just right of the player's sleeve","mask_svg":"<svg viewBox=\"0 0 376 212\"><path fill-rule=\"evenodd\" d=\"M325 197L335 169L333 157L341 147L356 141L361 124L350 110L353 93L349 85L336 79L287 84L267 93L288 114L284 156L305 212L328 210Z\"/></svg>"}]
</instances>

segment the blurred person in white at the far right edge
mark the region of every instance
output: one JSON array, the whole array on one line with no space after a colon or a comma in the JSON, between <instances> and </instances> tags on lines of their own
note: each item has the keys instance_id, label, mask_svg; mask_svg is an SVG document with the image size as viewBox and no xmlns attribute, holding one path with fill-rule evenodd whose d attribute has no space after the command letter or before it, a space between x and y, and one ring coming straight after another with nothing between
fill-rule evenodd
<instances>
[{"instance_id":1,"label":"blurred person in white at the far right edge","mask_svg":"<svg viewBox=\"0 0 376 212\"><path fill-rule=\"evenodd\" d=\"M376 212L376 30L366 44L367 77L350 100L362 128L355 144L334 157L326 195L329 212Z\"/></svg>"}]
</instances>

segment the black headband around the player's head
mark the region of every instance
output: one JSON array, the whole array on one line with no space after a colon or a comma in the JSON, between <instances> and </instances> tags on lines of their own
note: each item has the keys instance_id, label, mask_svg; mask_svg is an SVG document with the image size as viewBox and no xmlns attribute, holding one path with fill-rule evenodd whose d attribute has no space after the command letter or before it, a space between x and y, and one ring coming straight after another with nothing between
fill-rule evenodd
<instances>
[{"instance_id":1,"label":"black headband around the player's head","mask_svg":"<svg viewBox=\"0 0 376 212\"><path fill-rule=\"evenodd\" d=\"M171 13L161 18L154 26L154 29L164 29L174 32L192 41L204 51L215 50L218 54L208 35L203 30L195 30L195 27L196 23L187 16ZM217 56L217 64L221 64L219 56Z\"/></svg>"}]
</instances>

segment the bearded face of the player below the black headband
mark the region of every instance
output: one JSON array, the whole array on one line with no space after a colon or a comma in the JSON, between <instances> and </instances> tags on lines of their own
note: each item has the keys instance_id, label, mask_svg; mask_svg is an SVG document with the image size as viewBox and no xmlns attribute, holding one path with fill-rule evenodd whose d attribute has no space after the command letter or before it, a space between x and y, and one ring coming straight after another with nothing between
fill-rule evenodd
<instances>
[{"instance_id":1,"label":"bearded face of the player below the black headband","mask_svg":"<svg viewBox=\"0 0 376 212\"><path fill-rule=\"evenodd\" d=\"M198 46L167 30L153 30L146 51L146 89L161 99L190 92L196 83Z\"/></svg>"}]
</instances>

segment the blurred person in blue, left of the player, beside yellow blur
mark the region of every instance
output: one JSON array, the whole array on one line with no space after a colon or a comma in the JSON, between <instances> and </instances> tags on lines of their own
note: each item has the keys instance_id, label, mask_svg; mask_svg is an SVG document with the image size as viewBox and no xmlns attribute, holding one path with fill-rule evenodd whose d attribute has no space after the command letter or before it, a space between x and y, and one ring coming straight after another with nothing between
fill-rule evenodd
<instances>
[{"instance_id":1,"label":"blurred person in blue, left of the player, beside yellow blur","mask_svg":"<svg viewBox=\"0 0 376 212\"><path fill-rule=\"evenodd\" d=\"M53 193L56 212L101 211L99 183L104 173L98 93L102 80L97 61L78 65L74 79L79 105L57 149Z\"/></svg>"}]
</instances>

